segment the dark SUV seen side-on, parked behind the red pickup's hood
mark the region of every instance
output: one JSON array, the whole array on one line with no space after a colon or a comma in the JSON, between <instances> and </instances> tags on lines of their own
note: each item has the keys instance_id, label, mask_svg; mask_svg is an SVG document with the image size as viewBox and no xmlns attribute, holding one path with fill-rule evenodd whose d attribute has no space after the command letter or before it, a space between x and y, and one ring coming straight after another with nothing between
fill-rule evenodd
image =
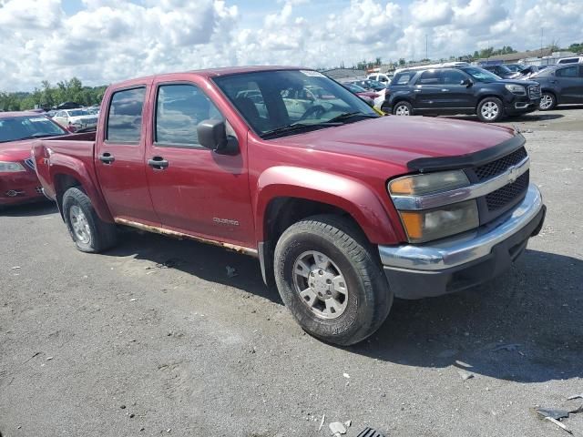
<instances>
[{"instance_id":1,"label":"dark SUV seen side-on, parked behind the red pickup's hood","mask_svg":"<svg viewBox=\"0 0 583 437\"><path fill-rule=\"evenodd\" d=\"M387 89L382 109L396 116L476 114L486 122L532 112L540 86L509 80L476 66L402 70Z\"/></svg>"}]
</instances>

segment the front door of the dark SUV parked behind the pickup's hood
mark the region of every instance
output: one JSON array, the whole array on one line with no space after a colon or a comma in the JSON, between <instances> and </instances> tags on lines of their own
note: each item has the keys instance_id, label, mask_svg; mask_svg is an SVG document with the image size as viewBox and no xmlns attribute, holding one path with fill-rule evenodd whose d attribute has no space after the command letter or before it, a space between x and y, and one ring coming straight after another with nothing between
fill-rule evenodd
<instances>
[{"instance_id":1,"label":"front door of the dark SUV parked behind the pickup's hood","mask_svg":"<svg viewBox=\"0 0 583 437\"><path fill-rule=\"evenodd\" d=\"M441 94L436 99L435 107L452 112L474 112L476 107L474 93L470 87L462 85L469 76L454 68L444 68L440 75Z\"/></svg>"}]
</instances>

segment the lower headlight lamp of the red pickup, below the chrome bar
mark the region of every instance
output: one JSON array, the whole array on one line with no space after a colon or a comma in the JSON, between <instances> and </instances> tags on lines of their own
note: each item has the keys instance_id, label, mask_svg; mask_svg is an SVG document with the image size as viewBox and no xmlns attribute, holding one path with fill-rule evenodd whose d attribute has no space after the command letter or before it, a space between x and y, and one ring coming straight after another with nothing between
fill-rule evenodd
<instances>
[{"instance_id":1,"label":"lower headlight lamp of the red pickup, below the chrome bar","mask_svg":"<svg viewBox=\"0 0 583 437\"><path fill-rule=\"evenodd\" d=\"M422 243L475 229L480 225L476 200L435 210L399 211L409 241Z\"/></svg>"}]
</instances>

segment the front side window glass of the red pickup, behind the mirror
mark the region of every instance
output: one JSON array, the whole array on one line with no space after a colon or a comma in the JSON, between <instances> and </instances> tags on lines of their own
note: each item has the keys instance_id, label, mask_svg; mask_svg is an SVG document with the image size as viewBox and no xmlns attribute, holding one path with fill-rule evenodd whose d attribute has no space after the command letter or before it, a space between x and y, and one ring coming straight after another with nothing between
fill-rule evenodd
<instances>
[{"instance_id":1,"label":"front side window glass of the red pickup, behind the mirror","mask_svg":"<svg viewBox=\"0 0 583 437\"><path fill-rule=\"evenodd\" d=\"M245 98L257 97L250 92ZM197 127L204 120L224 117L198 86L163 85L156 103L155 140L158 144L182 147L199 146Z\"/></svg>"}]
</instances>

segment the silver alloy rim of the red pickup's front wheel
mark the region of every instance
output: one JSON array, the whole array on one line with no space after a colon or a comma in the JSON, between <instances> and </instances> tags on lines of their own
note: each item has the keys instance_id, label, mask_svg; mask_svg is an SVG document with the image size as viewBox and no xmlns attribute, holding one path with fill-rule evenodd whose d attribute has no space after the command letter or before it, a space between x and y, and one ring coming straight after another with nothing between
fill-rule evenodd
<instances>
[{"instance_id":1,"label":"silver alloy rim of the red pickup's front wheel","mask_svg":"<svg viewBox=\"0 0 583 437\"><path fill-rule=\"evenodd\" d=\"M303 252L293 263L293 285L303 304L321 319L336 319L348 304L342 271L322 252Z\"/></svg>"}]
</instances>

